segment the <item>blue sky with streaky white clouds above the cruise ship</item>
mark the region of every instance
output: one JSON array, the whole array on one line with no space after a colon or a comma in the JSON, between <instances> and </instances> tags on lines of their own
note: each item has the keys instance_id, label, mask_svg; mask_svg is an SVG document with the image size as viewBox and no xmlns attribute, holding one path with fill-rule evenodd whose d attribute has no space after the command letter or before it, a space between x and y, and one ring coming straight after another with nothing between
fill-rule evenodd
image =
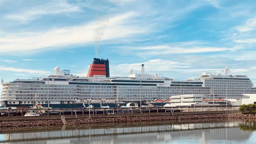
<instances>
[{"instance_id":1,"label":"blue sky with streaky white clouds above the cruise ship","mask_svg":"<svg viewBox=\"0 0 256 144\"><path fill-rule=\"evenodd\" d=\"M176 79L244 74L256 83L254 0L0 0L0 77L87 75L93 57L111 76L129 68Z\"/></svg>"}]
</instances>

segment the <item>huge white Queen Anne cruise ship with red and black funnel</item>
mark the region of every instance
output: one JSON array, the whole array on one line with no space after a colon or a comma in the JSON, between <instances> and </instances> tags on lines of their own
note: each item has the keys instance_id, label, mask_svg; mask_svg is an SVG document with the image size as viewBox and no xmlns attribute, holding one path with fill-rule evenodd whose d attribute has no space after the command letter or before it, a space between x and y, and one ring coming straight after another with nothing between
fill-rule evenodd
<instances>
[{"instance_id":1,"label":"huge white Queen Anne cruise ship with red and black funnel","mask_svg":"<svg viewBox=\"0 0 256 144\"><path fill-rule=\"evenodd\" d=\"M229 75L228 67L224 74L204 72L197 79L186 80L145 74L144 67L142 64L139 74L131 68L128 77L110 78L108 59L94 58L86 77L73 76L70 70L60 71L56 66L54 75L2 83L0 103L3 107L30 107L37 95L37 103L43 107L120 107L130 102L165 105L171 103L171 96L182 94L201 94L203 101L210 103L255 93L247 76Z\"/></svg>"}]
</instances>

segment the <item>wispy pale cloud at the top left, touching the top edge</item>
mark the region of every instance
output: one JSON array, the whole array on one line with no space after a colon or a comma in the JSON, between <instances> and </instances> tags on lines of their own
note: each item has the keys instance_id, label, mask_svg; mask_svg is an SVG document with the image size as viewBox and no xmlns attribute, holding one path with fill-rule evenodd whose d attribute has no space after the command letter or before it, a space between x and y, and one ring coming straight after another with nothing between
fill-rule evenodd
<instances>
[{"instance_id":1,"label":"wispy pale cloud at the top left, touching the top edge","mask_svg":"<svg viewBox=\"0 0 256 144\"><path fill-rule=\"evenodd\" d=\"M56 15L59 13L70 13L77 11L82 11L79 6L69 4L65 0L54 0L43 6L30 7L22 12L16 12L7 15L6 17L12 20L26 22L42 15Z\"/></svg>"}]
</instances>

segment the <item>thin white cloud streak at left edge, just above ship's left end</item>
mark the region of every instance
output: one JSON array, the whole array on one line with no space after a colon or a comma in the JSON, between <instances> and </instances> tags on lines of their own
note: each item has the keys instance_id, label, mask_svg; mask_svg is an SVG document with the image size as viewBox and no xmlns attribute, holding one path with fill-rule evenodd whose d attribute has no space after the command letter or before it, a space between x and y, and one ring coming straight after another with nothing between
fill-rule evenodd
<instances>
[{"instance_id":1,"label":"thin white cloud streak at left edge, just above ship's left end","mask_svg":"<svg viewBox=\"0 0 256 144\"><path fill-rule=\"evenodd\" d=\"M4 66L0 66L0 70L11 71L11 72L26 72L28 74L50 74L50 72L45 70L31 70L31 69L22 69L22 68L13 68L13 67L4 67Z\"/></svg>"}]
</instances>

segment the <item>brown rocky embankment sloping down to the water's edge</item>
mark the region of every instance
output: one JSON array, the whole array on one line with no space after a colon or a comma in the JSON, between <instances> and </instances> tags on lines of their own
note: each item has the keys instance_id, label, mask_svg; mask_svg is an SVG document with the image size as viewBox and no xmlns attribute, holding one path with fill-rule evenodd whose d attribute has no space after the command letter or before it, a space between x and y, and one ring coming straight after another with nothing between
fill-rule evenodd
<instances>
[{"instance_id":1,"label":"brown rocky embankment sloping down to the water's edge","mask_svg":"<svg viewBox=\"0 0 256 144\"><path fill-rule=\"evenodd\" d=\"M181 116L126 116L126 117L104 117L104 118L72 118L66 119L68 126L116 126L116 125L136 125L136 124L160 124L168 122L194 122L198 120L256 120L256 114L204 114L204 115L181 115ZM13 120L0 121L0 131L13 129L14 127L61 127L60 119L54 120Z\"/></svg>"}]
</instances>

